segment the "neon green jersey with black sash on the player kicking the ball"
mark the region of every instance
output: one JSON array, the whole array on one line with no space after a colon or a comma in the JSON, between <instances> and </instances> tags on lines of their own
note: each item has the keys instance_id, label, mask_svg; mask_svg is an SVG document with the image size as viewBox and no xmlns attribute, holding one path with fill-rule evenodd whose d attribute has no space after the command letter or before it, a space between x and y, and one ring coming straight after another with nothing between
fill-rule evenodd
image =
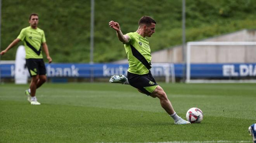
<instances>
[{"instance_id":1,"label":"neon green jersey with black sash on the player kicking the ball","mask_svg":"<svg viewBox=\"0 0 256 143\"><path fill-rule=\"evenodd\" d=\"M147 74L151 69L151 53L149 40L137 32L126 34L130 37L125 44L125 51L129 62L128 72L133 74Z\"/></svg>"}]
</instances>

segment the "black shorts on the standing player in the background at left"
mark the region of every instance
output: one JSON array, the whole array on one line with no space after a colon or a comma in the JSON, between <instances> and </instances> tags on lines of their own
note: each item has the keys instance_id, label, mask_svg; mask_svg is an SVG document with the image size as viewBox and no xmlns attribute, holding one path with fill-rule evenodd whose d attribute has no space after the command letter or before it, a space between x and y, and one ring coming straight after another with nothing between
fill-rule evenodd
<instances>
[{"instance_id":1,"label":"black shorts on the standing player in the background at left","mask_svg":"<svg viewBox=\"0 0 256 143\"><path fill-rule=\"evenodd\" d=\"M43 59L26 59L26 65L30 77L38 75L46 75L45 62Z\"/></svg>"}]
</instances>

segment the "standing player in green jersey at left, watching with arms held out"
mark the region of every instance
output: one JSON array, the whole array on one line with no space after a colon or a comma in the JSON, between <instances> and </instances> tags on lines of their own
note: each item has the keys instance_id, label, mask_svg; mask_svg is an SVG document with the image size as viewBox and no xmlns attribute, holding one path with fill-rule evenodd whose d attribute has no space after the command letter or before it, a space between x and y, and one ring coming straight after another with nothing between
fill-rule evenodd
<instances>
[{"instance_id":1,"label":"standing player in green jersey at left, watching with arms held out","mask_svg":"<svg viewBox=\"0 0 256 143\"><path fill-rule=\"evenodd\" d=\"M30 76L32 77L30 87L25 91L25 94L28 96L28 101L31 105L40 105L36 99L36 89L42 86L46 81L46 69L45 63L43 62L43 55L41 46L47 56L49 63L52 62L52 58L49 56L48 46L45 40L45 33L43 30L37 27L38 25L38 15L32 13L29 17L29 27L26 27L21 30L21 33L5 50L0 54L4 55L9 49L14 47L23 41L26 50L26 65Z\"/></svg>"}]
</instances>

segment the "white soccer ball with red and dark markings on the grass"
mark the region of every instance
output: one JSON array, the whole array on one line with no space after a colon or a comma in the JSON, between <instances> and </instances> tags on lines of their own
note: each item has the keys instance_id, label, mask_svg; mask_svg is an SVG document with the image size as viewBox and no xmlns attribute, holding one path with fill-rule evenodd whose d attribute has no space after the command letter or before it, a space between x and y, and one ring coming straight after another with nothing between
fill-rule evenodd
<instances>
[{"instance_id":1,"label":"white soccer ball with red and dark markings on the grass","mask_svg":"<svg viewBox=\"0 0 256 143\"><path fill-rule=\"evenodd\" d=\"M199 108L190 108L187 111L186 117L190 123L200 123L203 119L203 113Z\"/></svg>"}]
</instances>

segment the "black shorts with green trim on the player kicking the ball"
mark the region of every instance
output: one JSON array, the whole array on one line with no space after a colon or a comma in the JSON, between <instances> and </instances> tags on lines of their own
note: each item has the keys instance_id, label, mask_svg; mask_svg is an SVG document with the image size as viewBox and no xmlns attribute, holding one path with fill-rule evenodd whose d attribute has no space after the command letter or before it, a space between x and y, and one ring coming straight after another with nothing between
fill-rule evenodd
<instances>
[{"instance_id":1,"label":"black shorts with green trim on the player kicking the ball","mask_svg":"<svg viewBox=\"0 0 256 143\"><path fill-rule=\"evenodd\" d=\"M144 94L151 94L157 87L157 83L149 71L148 74L132 74L127 72L128 82L131 86L139 89Z\"/></svg>"}]
</instances>

